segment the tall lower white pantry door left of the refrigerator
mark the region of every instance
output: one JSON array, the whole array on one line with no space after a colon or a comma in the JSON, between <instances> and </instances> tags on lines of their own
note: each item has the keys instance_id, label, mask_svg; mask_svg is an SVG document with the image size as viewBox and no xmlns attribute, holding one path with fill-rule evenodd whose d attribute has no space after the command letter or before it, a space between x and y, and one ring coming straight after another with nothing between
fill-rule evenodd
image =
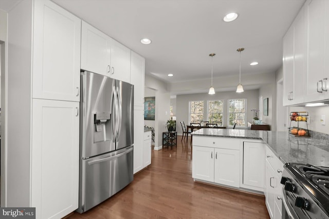
<instances>
[{"instance_id":1,"label":"tall lower white pantry door left of the refrigerator","mask_svg":"<svg viewBox=\"0 0 329 219\"><path fill-rule=\"evenodd\" d=\"M78 208L79 102L32 101L31 206L36 218Z\"/></svg>"}]
</instances>

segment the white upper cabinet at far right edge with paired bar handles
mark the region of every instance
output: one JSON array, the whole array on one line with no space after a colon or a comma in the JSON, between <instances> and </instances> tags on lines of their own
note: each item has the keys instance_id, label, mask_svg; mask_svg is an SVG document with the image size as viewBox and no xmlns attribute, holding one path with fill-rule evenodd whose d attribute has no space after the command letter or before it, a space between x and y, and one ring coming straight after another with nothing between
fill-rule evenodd
<instances>
[{"instance_id":1,"label":"white upper cabinet at far right edge with paired bar handles","mask_svg":"<svg viewBox=\"0 0 329 219\"><path fill-rule=\"evenodd\" d=\"M306 3L307 74L305 102L329 98L329 3L325 0Z\"/></svg>"}]
</instances>

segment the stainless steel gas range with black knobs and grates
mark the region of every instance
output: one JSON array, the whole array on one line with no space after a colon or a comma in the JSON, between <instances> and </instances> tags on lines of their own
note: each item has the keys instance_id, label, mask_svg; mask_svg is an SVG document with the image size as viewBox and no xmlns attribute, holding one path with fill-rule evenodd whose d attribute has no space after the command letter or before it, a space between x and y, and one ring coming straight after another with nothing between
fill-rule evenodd
<instances>
[{"instance_id":1,"label":"stainless steel gas range with black knobs and grates","mask_svg":"<svg viewBox=\"0 0 329 219\"><path fill-rule=\"evenodd\" d=\"M286 163L282 218L329 219L329 167Z\"/></svg>"}]
</instances>

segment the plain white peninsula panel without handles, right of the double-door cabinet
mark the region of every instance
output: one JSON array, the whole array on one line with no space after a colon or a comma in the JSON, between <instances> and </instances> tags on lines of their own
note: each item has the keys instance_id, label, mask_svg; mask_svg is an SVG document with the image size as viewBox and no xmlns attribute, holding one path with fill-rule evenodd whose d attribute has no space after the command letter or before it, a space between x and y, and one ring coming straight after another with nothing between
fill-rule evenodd
<instances>
[{"instance_id":1,"label":"plain white peninsula panel without handles, right of the double-door cabinet","mask_svg":"<svg viewBox=\"0 0 329 219\"><path fill-rule=\"evenodd\" d=\"M264 191L265 148L262 142L243 142L242 187Z\"/></svg>"}]
</instances>

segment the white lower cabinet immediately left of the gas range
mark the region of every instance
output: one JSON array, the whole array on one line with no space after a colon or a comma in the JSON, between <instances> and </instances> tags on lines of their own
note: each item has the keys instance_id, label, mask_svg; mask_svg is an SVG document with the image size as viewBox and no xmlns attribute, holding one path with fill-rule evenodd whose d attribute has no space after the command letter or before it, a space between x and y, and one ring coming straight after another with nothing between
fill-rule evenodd
<instances>
[{"instance_id":1,"label":"white lower cabinet immediately left of the gas range","mask_svg":"<svg viewBox=\"0 0 329 219\"><path fill-rule=\"evenodd\" d=\"M280 184L283 162L266 147L265 161L265 201L270 218L281 219L282 185Z\"/></svg>"}]
</instances>

